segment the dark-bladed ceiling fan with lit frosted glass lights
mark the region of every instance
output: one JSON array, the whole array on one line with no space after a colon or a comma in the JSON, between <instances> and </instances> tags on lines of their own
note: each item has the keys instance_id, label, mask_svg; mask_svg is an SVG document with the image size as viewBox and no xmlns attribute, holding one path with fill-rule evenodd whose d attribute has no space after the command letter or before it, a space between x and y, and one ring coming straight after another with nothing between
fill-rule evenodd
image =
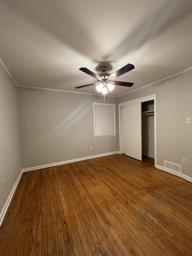
<instances>
[{"instance_id":1,"label":"dark-bladed ceiling fan with lit frosted glass lights","mask_svg":"<svg viewBox=\"0 0 192 256\"><path fill-rule=\"evenodd\" d=\"M87 68L79 68L79 70L83 71L84 73L90 75L91 77L97 78L98 83L90 83L82 86L77 86L75 87L76 89L86 87L86 86L91 86L91 85L97 85L96 89L98 92L101 92L102 94L108 93L108 91L112 91L114 89L114 84L115 85L120 85L120 86L127 86L131 87L134 85L134 83L128 83L128 82L120 82L120 81L114 81L113 79L127 73L128 71L134 69L133 64L127 64L123 68L120 68L118 71L116 71L113 74L105 73L107 70L107 66L101 66L102 74L95 74L92 71L90 71Z\"/></svg>"}]
</instances>

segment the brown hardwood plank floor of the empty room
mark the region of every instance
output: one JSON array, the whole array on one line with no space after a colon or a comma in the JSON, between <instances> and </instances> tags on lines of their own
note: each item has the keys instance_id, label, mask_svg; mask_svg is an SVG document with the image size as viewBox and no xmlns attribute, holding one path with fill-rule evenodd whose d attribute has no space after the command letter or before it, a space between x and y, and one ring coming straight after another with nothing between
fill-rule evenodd
<instances>
[{"instance_id":1,"label":"brown hardwood plank floor of the empty room","mask_svg":"<svg viewBox=\"0 0 192 256\"><path fill-rule=\"evenodd\" d=\"M192 255L192 183L119 154L23 173L0 255Z\"/></svg>"}]
</instances>

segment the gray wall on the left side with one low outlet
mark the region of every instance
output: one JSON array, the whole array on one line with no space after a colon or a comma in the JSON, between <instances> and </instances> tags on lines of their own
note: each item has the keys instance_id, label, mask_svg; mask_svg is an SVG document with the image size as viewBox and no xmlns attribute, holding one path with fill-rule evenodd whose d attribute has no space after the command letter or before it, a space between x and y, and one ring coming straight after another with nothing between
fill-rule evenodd
<instances>
[{"instance_id":1,"label":"gray wall on the left side with one low outlet","mask_svg":"<svg viewBox=\"0 0 192 256\"><path fill-rule=\"evenodd\" d=\"M0 212L22 169L17 87L0 64ZM4 188L4 179L7 181Z\"/></svg>"}]
</instances>

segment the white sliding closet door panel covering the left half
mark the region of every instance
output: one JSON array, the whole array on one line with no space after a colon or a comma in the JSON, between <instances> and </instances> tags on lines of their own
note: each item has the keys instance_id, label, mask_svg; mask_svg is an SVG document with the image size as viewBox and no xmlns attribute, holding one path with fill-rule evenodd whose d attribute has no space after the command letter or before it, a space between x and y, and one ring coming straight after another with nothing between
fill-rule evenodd
<instances>
[{"instance_id":1,"label":"white sliding closet door panel covering the left half","mask_svg":"<svg viewBox=\"0 0 192 256\"><path fill-rule=\"evenodd\" d=\"M142 161L141 103L122 111L122 148L125 155Z\"/></svg>"}]
</instances>

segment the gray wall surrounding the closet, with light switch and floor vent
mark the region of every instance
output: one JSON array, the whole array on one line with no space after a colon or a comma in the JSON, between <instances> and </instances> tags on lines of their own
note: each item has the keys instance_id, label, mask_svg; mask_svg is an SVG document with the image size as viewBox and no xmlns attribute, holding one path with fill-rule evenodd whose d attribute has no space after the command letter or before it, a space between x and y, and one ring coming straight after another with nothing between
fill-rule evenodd
<instances>
[{"instance_id":1,"label":"gray wall surrounding the closet, with light switch and floor vent","mask_svg":"<svg viewBox=\"0 0 192 256\"><path fill-rule=\"evenodd\" d=\"M151 94L156 94L157 104L157 164L181 164L182 173L192 177L192 124L187 124L187 117L192 117L192 70L123 95L118 103Z\"/></svg>"}]
</instances>

